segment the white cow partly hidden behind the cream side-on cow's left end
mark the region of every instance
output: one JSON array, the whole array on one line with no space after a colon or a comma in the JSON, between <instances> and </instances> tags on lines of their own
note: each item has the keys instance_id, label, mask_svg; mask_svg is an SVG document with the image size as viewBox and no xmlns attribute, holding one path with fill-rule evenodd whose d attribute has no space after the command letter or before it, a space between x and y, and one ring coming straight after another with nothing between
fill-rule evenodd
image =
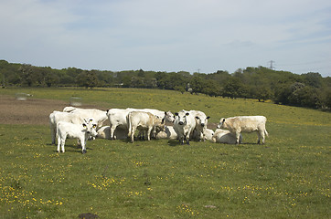
<instances>
[{"instance_id":1,"label":"white cow partly hidden behind the cream side-on cow's left end","mask_svg":"<svg viewBox=\"0 0 331 219\"><path fill-rule=\"evenodd\" d=\"M115 140L116 136L114 132L116 128L120 128L123 130L129 130L126 117L132 110L126 109L111 109L107 110L108 120L110 122L110 139Z\"/></svg>"}]
</instances>

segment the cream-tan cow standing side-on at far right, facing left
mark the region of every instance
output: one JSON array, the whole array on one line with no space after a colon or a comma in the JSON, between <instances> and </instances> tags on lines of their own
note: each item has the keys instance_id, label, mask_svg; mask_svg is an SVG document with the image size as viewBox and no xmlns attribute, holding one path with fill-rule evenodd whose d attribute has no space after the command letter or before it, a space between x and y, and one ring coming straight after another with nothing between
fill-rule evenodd
<instances>
[{"instance_id":1,"label":"cream-tan cow standing side-on at far right, facing left","mask_svg":"<svg viewBox=\"0 0 331 219\"><path fill-rule=\"evenodd\" d=\"M265 129L265 123L267 119L264 116L238 116L230 118L222 118L219 120L219 129L230 130L230 133L236 136L236 143L240 143L240 133L251 133L256 131L258 133L258 143L264 144L265 136L268 136L268 132Z\"/></svg>"}]
</instances>

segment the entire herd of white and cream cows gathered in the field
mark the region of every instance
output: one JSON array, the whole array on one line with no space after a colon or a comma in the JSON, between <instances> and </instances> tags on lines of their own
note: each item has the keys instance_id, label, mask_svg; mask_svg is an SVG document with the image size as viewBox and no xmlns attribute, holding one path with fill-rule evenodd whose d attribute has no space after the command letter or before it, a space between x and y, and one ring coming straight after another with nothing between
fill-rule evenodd
<instances>
[{"instance_id":1,"label":"entire herd of white and cream cows gathered in the field","mask_svg":"<svg viewBox=\"0 0 331 219\"><path fill-rule=\"evenodd\" d=\"M58 152L65 151L67 138L78 139L82 153L85 153L89 139L124 140L129 137L133 142L136 130L139 131L136 138L147 137L148 141L151 138L173 139L181 144L189 144L190 140L239 144L241 132L253 131L258 133L258 143L264 143L265 136L268 136L264 116L222 118L215 131L207 128L208 119L199 110L180 110L174 115L170 111L132 108L103 111L66 107L49 115L52 144L58 140ZM102 126L106 120L110 126Z\"/></svg>"}]
</instances>

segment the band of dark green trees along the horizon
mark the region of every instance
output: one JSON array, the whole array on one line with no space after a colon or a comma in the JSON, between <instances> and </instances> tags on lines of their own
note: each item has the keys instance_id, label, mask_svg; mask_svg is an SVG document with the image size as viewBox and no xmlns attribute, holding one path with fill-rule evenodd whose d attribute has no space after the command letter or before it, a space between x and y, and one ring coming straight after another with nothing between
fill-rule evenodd
<instances>
[{"instance_id":1,"label":"band of dark green trees along the horizon","mask_svg":"<svg viewBox=\"0 0 331 219\"><path fill-rule=\"evenodd\" d=\"M264 101L272 99L286 104L314 109L331 109L331 78L319 73L297 75L258 67L238 69L233 74L219 70L214 73L190 74L187 71L163 72L125 70L53 69L0 60L2 87L123 87L173 89L181 93L207 94L230 99L245 98Z\"/></svg>"}]
</instances>

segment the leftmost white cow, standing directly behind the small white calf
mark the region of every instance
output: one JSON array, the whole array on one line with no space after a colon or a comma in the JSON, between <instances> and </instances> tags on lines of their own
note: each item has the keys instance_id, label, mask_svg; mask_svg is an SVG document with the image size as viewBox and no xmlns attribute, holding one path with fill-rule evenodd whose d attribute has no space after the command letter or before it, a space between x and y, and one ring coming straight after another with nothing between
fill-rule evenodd
<instances>
[{"instance_id":1,"label":"leftmost white cow, standing directly behind the small white calf","mask_svg":"<svg viewBox=\"0 0 331 219\"><path fill-rule=\"evenodd\" d=\"M57 124L59 121L67 121L73 124L81 124L84 119L82 116L77 114L72 114L69 112L53 111L49 114L49 126L52 138L52 144L55 144L56 134L57 134Z\"/></svg>"}]
</instances>

